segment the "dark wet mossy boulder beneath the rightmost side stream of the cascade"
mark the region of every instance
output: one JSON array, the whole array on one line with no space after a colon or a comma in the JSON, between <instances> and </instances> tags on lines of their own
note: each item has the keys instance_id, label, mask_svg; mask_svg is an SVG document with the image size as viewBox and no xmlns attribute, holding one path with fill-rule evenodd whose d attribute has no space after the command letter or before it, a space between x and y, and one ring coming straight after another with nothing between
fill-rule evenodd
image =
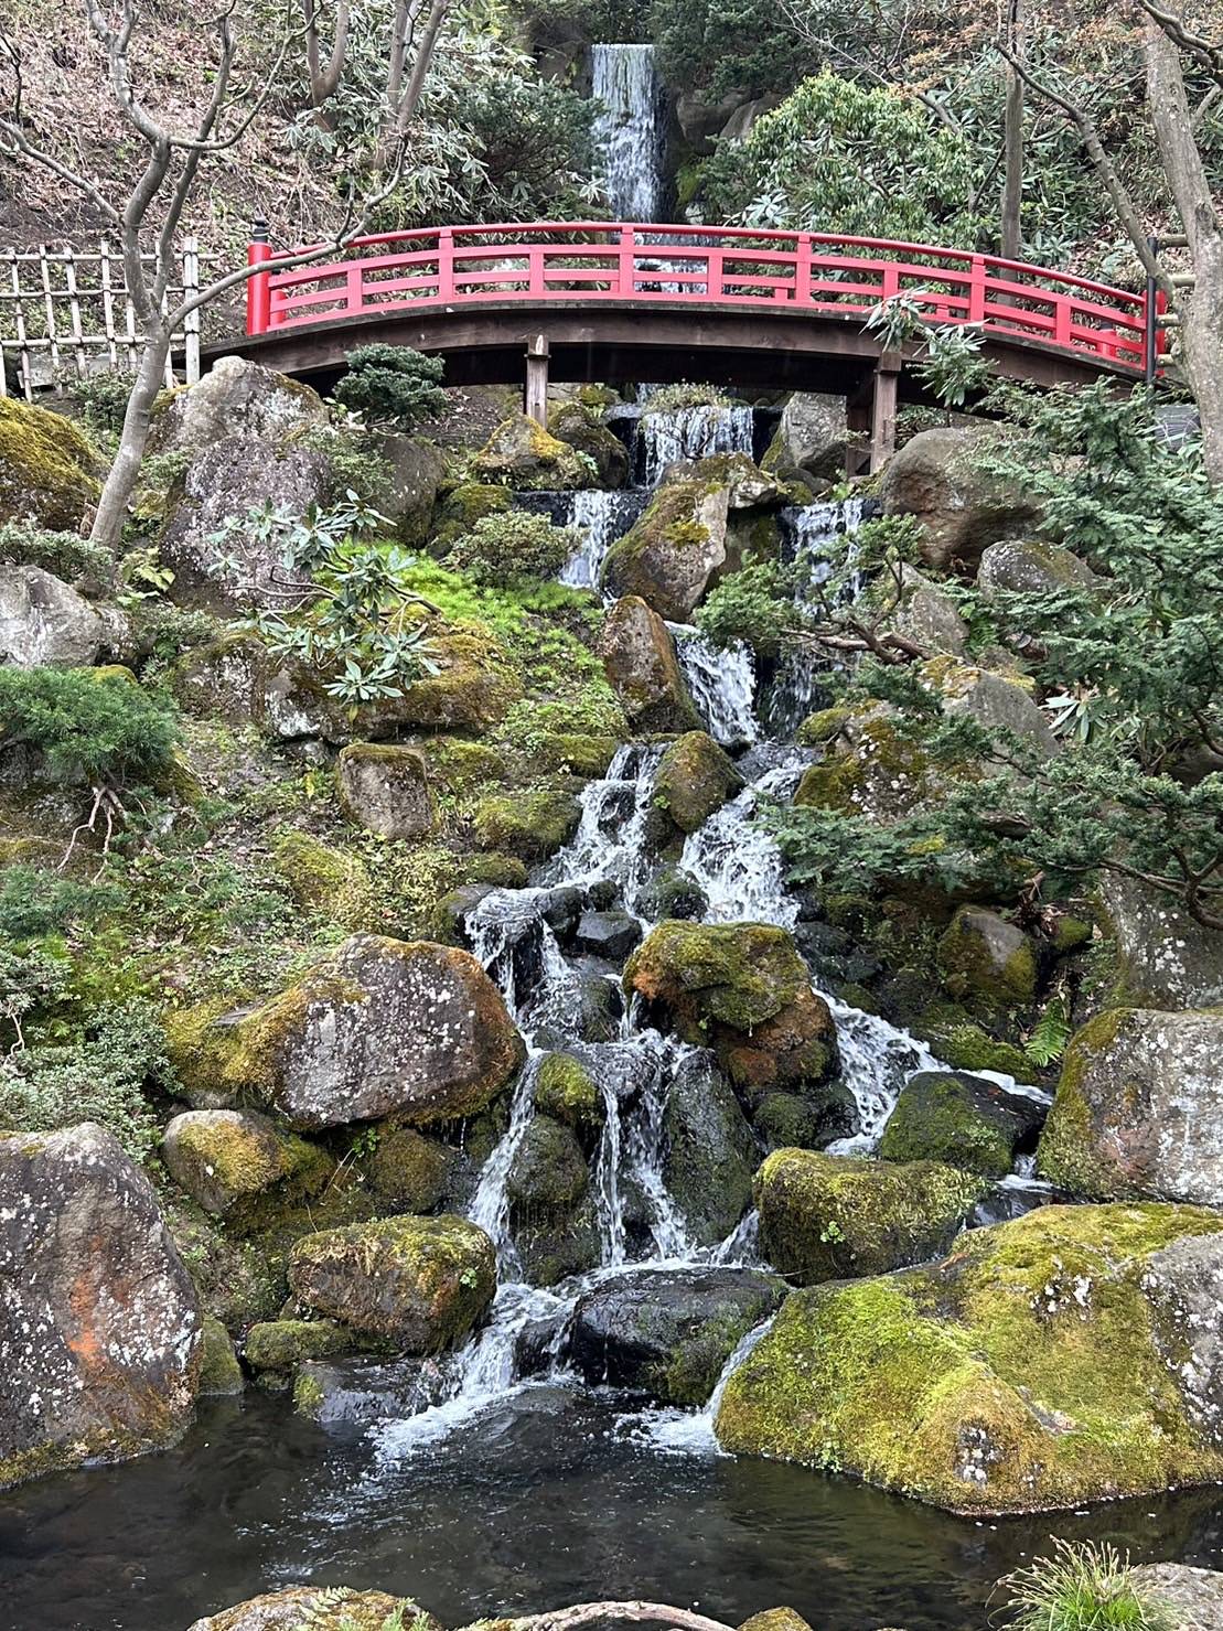
<instances>
[{"instance_id":1,"label":"dark wet mossy boulder beneath the rightmost side stream of the cascade","mask_svg":"<svg viewBox=\"0 0 1223 1631\"><path fill-rule=\"evenodd\" d=\"M1044 1106L967 1070L921 1070L900 1090L879 1140L885 1161L946 1161L1003 1178L1034 1143Z\"/></svg>"}]
</instances>

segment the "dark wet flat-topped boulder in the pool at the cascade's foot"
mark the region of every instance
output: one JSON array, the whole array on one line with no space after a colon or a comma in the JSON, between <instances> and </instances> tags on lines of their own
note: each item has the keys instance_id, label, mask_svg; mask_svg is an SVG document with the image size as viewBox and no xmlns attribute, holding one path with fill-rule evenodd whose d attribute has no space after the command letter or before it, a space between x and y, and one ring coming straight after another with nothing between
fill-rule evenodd
<instances>
[{"instance_id":1,"label":"dark wet flat-topped boulder in the pool at the cascade's foot","mask_svg":"<svg viewBox=\"0 0 1223 1631\"><path fill-rule=\"evenodd\" d=\"M755 1269L636 1269L585 1292L569 1359L592 1383L704 1404L742 1337L786 1288Z\"/></svg>"}]
</instances>

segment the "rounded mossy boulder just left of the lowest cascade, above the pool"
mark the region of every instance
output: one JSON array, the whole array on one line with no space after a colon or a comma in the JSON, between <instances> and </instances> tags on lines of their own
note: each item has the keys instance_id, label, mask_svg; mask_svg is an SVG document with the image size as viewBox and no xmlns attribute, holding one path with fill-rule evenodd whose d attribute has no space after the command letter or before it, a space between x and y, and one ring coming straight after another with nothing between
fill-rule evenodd
<instances>
[{"instance_id":1,"label":"rounded mossy boulder just left of the lowest cascade, above the pool","mask_svg":"<svg viewBox=\"0 0 1223 1631\"><path fill-rule=\"evenodd\" d=\"M408 1354L455 1347L497 1288L488 1235L458 1217L396 1217L297 1241L289 1284L298 1303Z\"/></svg>"}]
</instances>

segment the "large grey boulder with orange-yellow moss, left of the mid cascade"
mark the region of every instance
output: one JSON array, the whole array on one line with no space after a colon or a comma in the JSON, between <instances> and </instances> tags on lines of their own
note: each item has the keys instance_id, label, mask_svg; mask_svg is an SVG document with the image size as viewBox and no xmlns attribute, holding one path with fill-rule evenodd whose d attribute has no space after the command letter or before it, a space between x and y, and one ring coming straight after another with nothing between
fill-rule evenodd
<instances>
[{"instance_id":1,"label":"large grey boulder with orange-yellow moss, left of the mid cascade","mask_svg":"<svg viewBox=\"0 0 1223 1631\"><path fill-rule=\"evenodd\" d=\"M453 946L354 935L294 985L202 1028L217 1086L297 1127L475 1116L509 1085L522 1039L501 992Z\"/></svg>"}]
</instances>

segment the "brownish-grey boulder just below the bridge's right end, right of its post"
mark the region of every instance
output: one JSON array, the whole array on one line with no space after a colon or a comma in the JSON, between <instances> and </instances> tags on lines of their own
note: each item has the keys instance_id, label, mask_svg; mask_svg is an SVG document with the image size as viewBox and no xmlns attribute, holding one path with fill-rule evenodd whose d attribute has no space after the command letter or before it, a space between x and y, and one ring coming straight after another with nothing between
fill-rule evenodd
<instances>
[{"instance_id":1,"label":"brownish-grey boulder just below the bridge's right end, right of its post","mask_svg":"<svg viewBox=\"0 0 1223 1631\"><path fill-rule=\"evenodd\" d=\"M884 471L884 514L921 522L928 566L975 566L988 545L1037 519L1031 494L980 470L995 435L988 426L918 431Z\"/></svg>"}]
</instances>

